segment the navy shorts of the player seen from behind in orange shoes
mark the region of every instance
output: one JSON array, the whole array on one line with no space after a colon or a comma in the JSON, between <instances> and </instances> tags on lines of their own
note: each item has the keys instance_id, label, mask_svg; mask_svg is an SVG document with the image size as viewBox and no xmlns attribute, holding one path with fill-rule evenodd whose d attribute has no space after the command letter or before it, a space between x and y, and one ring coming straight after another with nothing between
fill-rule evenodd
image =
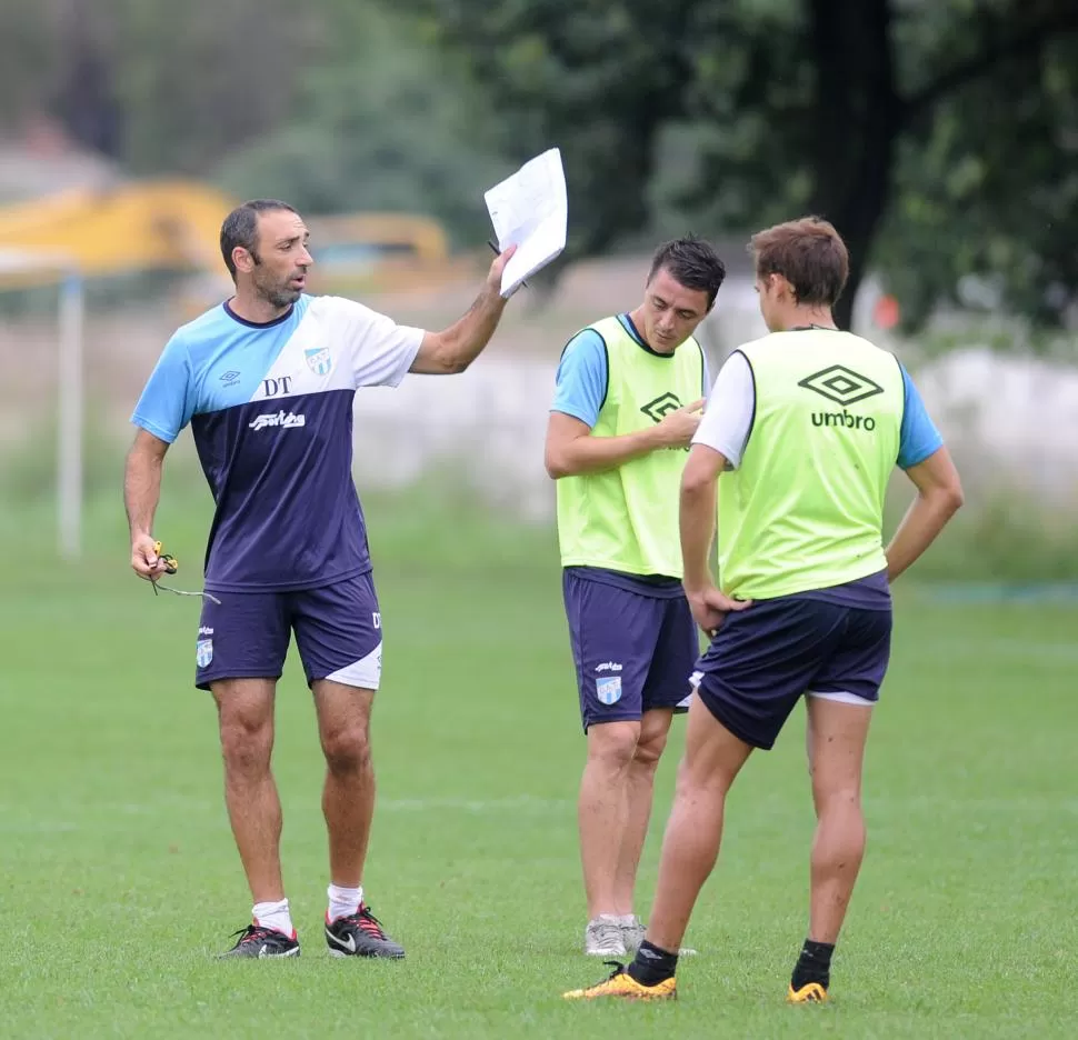
<instances>
[{"instance_id":1,"label":"navy shorts of the player seen from behind in orange shoes","mask_svg":"<svg viewBox=\"0 0 1078 1040\"><path fill-rule=\"evenodd\" d=\"M769 750L802 694L874 704L887 672L891 611L798 596L727 616L692 679L735 737Z\"/></svg>"}]
</instances>

